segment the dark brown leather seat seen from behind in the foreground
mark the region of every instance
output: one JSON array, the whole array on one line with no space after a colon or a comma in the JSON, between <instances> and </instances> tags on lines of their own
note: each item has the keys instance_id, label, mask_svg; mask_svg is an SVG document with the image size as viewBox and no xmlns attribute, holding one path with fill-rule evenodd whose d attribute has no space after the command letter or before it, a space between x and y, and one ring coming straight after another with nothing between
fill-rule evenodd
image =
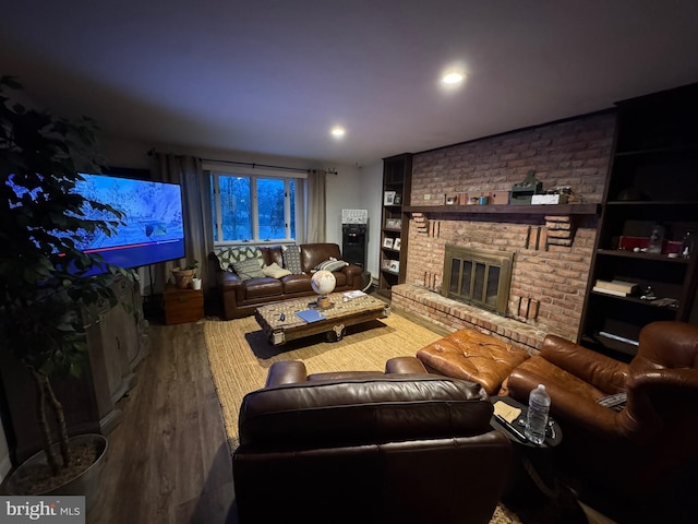
<instances>
[{"instance_id":1,"label":"dark brown leather seat seen from behind in the foreground","mask_svg":"<svg viewBox=\"0 0 698 524\"><path fill-rule=\"evenodd\" d=\"M413 357L385 374L274 364L240 408L240 523L485 524L512 454L491 415L479 384Z\"/></svg>"}]
</instances>

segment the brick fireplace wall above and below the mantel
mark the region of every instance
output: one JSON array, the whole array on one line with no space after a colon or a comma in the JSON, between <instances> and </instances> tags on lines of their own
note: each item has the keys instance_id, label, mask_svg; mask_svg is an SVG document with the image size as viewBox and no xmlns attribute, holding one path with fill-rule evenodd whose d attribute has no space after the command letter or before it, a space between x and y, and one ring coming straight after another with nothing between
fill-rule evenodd
<instances>
[{"instance_id":1,"label":"brick fireplace wall above and below the mantel","mask_svg":"<svg viewBox=\"0 0 698 524\"><path fill-rule=\"evenodd\" d=\"M614 115L594 115L417 154L411 205L442 204L446 193L509 190L530 169L543 189L569 186L578 202L601 202L614 123ZM407 284L440 290L446 243L514 252L509 317L527 329L577 338L595 217L430 213L428 218L428 227L414 223L419 215L410 221Z\"/></svg>"}]
</instances>

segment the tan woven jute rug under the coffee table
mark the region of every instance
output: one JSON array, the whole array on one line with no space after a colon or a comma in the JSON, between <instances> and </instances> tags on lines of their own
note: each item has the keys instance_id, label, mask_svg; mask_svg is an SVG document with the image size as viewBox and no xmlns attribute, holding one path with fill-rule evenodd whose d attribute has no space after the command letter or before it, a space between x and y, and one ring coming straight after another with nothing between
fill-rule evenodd
<instances>
[{"instance_id":1,"label":"tan woven jute rug under the coffee table","mask_svg":"<svg viewBox=\"0 0 698 524\"><path fill-rule=\"evenodd\" d=\"M442 337L434 331L392 314L347 327L339 342L317 335L275 347L253 317L204 322L206 352L222 410L230 449L238 446L238 412L242 397L264 386L272 364L302 360L309 373L326 371L382 371L393 357L414 356L418 349ZM507 508L497 507L491 524L521 524Z\"/></svg>"}]
</instances>

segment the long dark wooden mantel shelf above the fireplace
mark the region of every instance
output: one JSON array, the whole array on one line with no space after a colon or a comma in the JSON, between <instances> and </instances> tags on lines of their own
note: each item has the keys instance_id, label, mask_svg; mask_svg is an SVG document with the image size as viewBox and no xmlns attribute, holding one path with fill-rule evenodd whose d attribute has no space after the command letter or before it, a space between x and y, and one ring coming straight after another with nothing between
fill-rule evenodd
<instances>
[{"instance_id":1,"label":"long dark wooden mantel shelf above the fireplace","mask_svg":"<svg viewBox=\"0 0 698 524\"><path fill-rule=\"evenodd\" d=\"M408 213L429 215L490 214L490 215L598 215L599 204L546 205L406 205Z\"/></svg>"}]
</instances>

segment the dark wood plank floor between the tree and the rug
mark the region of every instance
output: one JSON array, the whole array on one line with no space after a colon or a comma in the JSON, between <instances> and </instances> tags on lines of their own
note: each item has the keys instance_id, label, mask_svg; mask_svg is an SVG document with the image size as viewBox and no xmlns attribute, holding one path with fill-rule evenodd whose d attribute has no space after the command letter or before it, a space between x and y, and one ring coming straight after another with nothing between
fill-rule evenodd
<instances>
[{"instance_id":1,"label":"dark wood plank floor between the tree and the rug","mask_svg":"<svg viewBox=\"0 0 698 524\"><path fill-rule=\"evenodd\" d=\"M231 456L202 324L151 325L136 373L87 522L234 523Z\"/></svg>"}]
</instances>

